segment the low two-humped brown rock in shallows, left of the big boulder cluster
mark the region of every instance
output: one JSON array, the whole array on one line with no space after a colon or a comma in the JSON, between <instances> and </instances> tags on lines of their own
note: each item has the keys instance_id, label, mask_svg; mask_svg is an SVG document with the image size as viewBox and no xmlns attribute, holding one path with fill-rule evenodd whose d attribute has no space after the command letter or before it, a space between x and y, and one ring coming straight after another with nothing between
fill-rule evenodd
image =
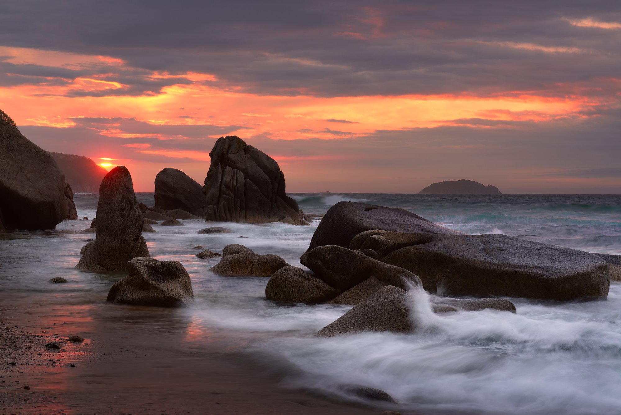
<instances>
[{"instance_id":1,"label":"low two-humped brown rock in shallows, left of the big boulder cluster","mask_svg":"<svg viewBox=\"0 0 621 415\"><path fill-rule=\"evenodd\" d=\"M226 276L271 276L288 265L278 255L256 255L243 245L230 244L224 247L222 259L210 271Z\"/></svg>"}]
</instances>

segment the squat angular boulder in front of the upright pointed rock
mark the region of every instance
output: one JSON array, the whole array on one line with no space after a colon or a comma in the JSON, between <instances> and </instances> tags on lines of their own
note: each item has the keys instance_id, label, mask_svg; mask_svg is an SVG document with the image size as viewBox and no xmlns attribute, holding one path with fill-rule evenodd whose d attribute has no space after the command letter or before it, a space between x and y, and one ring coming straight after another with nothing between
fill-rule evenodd
<instances>
[{"instance_id":1,"label":"squat angular boulder in front of the upright pointed rock","mask_svg":"<svg viewBox=\"0 0 621 415\"><path fill-rule=\"evenodd\" d=\"M188 271L178 261L133 258L129 276L112 286L106 301L137 306L181 307L194 301Z\"/></svg>"}]
</instances>

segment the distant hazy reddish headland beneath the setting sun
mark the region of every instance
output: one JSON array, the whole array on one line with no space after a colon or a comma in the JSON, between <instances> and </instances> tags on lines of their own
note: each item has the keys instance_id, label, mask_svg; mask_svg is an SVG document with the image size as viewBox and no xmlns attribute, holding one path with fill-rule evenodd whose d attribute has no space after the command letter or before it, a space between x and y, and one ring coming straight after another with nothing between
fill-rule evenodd
<instances>
[{"instance_id":1,"label":"distant hazy reddish headland beneath the setting sun","mask_svg":"<svg viewBox=\"0 0 621 415\"><path fill-rule=\"evenodd\" d=\"M48 152L56 160L58 168L65 173L65 181L73 191L96 193L101 181L108 174L102 166L96 165L88 157Z\"/></svg>"}]
</instances>

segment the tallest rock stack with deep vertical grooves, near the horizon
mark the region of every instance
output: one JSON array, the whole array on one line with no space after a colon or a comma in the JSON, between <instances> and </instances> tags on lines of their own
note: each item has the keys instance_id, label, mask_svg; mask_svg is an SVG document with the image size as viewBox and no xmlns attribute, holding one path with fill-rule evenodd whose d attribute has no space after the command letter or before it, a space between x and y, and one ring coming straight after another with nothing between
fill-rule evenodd
<instances>
[{"instance_id":1,"label":"tallest rock stack with deep vertical grooves, near the horizon","mask_svg":"<svg viewBox=\"0 0 621 415\"><path fill-rule=\"evenodd\" d=\"M276 161L233 135L220 137L209 153L203 193L207 221L302 224L296 201L285 194Z\"/></svg>"}]
</instances>

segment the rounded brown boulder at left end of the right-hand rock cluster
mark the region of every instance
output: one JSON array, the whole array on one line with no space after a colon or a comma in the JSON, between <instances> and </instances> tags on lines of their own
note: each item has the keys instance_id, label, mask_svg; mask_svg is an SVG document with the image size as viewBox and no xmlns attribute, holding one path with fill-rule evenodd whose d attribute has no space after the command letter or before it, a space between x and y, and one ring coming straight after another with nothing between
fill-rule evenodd
<instances>
[{"instance_id":1,"label":"rounded brown boulder at left end of the right-hand rock cluster","mask_svg":"<svg viewBox=\"0 0 621 415\"><path fill-rule=\"evenodd\" d=\"M265 286L265 298L291 303L323 303L338 293L324 281L297 267L280 268Z\"/></svg>"}]
</instances>

